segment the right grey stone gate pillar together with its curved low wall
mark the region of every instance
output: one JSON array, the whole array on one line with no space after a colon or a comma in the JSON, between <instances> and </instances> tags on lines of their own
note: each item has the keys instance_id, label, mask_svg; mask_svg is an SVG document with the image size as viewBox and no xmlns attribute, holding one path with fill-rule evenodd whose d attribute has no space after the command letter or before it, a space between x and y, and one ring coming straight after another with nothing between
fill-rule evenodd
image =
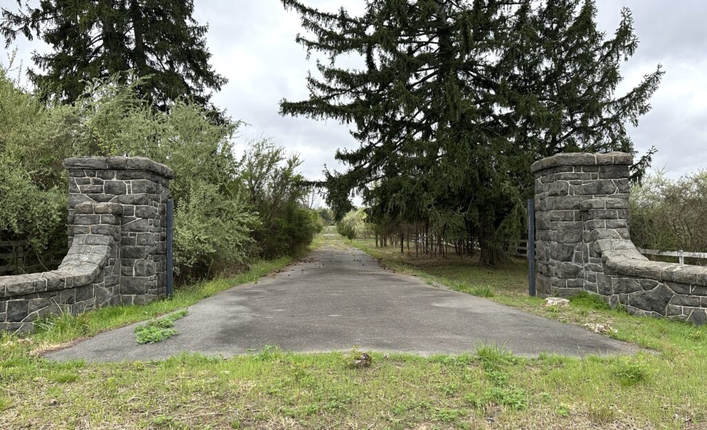
<instances>
[{"instance_id":1,"label":"right grey stone gate pillar together with its curved low wall","mask_svg":"<svg viewBox=\"0 0 707 430\"><path fill-rule=\"evenodd\" d=\"M535 176L537 291L588 291L630 313L707 322L707 267L651 262L629 233L626 153L558 154Z\"/></svg>"}]
</instances>

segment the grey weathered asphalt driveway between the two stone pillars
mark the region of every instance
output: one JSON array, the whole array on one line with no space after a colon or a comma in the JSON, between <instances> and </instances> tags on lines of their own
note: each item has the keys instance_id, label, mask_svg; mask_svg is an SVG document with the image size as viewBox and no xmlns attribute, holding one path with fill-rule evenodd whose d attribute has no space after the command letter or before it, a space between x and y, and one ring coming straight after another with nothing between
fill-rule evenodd
<instances>
[{"instance_id":1,"label":"grey weathered asphalt driveway between the two stone pillars","mask_svg":"<svg viewBox=\"0 0 707 430\"><path fill-rule=\"evenodd\" d=\"M484 298L429 286L382 269L366 253L324 247L257 284L189 308L179 335L135 343L134 325L47 354L65 361L165 359L182 351L231 356L267 345L287 351L358 347L414 354L473 352L495 343L515 354L633 354L637 348Z\"/></svg>"}]
</instances>

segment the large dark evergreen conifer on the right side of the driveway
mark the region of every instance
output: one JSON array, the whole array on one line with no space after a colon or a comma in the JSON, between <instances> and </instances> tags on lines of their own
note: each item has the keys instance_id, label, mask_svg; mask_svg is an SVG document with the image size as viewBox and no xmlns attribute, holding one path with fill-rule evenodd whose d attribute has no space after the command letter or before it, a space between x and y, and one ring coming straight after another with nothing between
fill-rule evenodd
<instances>
[{"instance_id":1,"label":"large dark evergreen conifer on the right side of the driveway","mask_svg":"<svg viewBox=\"0 0 707 430\"><path fill-rule=\"evenodd\" d=\"M363 197L383 237L423 237L425 252L479 248L502 262L525 228L532 162L559 152L636 153L626 132L648 112L663 71L616 95L636 51L631 12L610 37L593 0L371 0L353 16L282 0L317 62L309 98L282 115L334 118L360 142L322 185L337 219ZM358 57L361 67L339 65ZM347 63L350 64L350 63ZM633 178L650 163L638 158ZM402 240L401 240L402 243Z\"/></svg>"}]
</instances>

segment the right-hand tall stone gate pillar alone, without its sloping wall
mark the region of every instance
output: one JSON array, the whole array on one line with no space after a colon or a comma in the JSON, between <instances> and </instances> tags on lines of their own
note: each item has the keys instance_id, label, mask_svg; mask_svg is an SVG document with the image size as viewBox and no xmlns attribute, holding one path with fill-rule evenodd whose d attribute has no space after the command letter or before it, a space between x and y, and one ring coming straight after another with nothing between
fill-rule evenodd
<instances>
[{"instance_id":1,"label":"right-hand tall stone gate pillar alone, without its sloping wall","mask_svg":"<svg viewBox=\"0 0 707 430\"><path fill-rule=\"evenodd\" d=\"M561 153L533 163L539 294L571 296L585 289L585 282L596 292L601 271L592 267L600 269L602 260L590 246L592 238L585 238L592 234L585 223L624 229L628 238L632 163L633 157L619 152Z\"/></svg>"}]
</instances>

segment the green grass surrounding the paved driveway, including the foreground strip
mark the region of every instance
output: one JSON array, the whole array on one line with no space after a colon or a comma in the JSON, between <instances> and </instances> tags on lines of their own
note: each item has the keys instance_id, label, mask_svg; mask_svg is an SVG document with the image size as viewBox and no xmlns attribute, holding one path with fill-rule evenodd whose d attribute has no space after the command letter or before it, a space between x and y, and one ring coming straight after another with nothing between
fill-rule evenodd
<instances>
[{"instance_id":1,"label":"green grass surrounding the paved driveway, including the foreground strip","mask_svg":"<svg viewBox=\"0 0 707 430\"><path fill-rule=\"evenodd\" d=\"M324 235L322 235L324 236ZM325 247L345 246L336 236ZM354 245L368 247L368 243ZM328 248L324 248L325 252ZM235 284L192 286L168 304L100 310L54 320L27 338L0 337L0 423L5 429L669 429L707 428L707 335L700 327L638 318L592 297L549 310L525 294L525 266L416 260L370 251L392 269L433 285L568 323L609 324L613 337L653 351L584 359L514 356L493 344L430 357L365 351L290 354L267 347L229 359L180 354L164 361L52 363L47 342L99 332L185 308ZM281 262L283 263L283 262ZM284 264L284 263L283 263ZM281 265L272 265L269 270ZM259 274L269 272L262 270ZM243 275L252 281L255 273ZM189 289L187 289L189 290ZM484 293L484 294L481 294ZM187 299L187 297L189 297ZM114 308L115 309L115 308ZM63 322L62 322L63 321ZM467 322L468 323L468 322ZM75 327L84 327L76 330Z\"/></svg>"}]
</instances>

